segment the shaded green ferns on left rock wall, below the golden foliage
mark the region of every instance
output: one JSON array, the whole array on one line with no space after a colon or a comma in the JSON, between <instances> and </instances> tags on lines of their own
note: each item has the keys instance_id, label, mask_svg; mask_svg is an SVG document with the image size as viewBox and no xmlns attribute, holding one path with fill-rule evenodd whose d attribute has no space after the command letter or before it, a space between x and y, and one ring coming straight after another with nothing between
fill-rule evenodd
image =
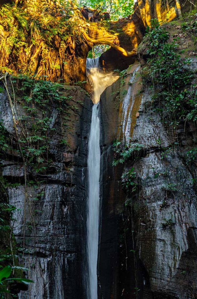
<instances>
[{"instance_id":1,"label":"shaded green ferns on left rock wall, below the golden foliage","mask_svg":"<svg viewBox=\"0 0 197 299\"><path fill-rule=\"evenodd\" d=\"M48 116L49 110L52 106L66 114L71 97L63 94L63 86L59 83L36 80L24 75L14 77L13 83L20 104L26 110L26 115L19 118L20 126L31 128L24 129L20 136L18 152L36 173L43 173L48 167L49 136L54 130ZM64 140L63 143L66 144L67 141Z\"/></svg>"}]
</instances>

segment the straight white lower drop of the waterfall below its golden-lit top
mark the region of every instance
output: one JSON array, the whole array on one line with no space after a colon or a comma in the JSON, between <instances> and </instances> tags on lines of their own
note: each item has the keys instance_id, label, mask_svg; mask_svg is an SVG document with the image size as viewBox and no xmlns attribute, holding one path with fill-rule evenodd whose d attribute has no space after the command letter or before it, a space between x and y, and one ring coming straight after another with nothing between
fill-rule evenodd
<instances>
[{"instance_id":1,"label":"straight white lower drop of the waterfall below its golden-lit top","mask_svg":"<svg viewBox=\"0 0 197 299\"><path fill-rule=\"evenodd\" d=\"M88 144L88 263L90 299L97 299L97 255L99 226L99 176L100 176L100 120L99 103L92 108Z\"/></svg>"}]
</instances>

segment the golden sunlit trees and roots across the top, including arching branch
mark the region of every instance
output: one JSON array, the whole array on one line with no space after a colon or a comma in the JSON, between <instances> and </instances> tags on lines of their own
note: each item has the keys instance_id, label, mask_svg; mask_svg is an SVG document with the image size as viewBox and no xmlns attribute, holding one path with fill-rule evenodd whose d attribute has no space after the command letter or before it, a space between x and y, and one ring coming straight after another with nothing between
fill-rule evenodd
<instances>
[{"instance_id":1,"label":"golden sunlit trees and roots across the top, including arching branch","mask_svg":"<svg viewBox=\"0 0 197 299\"><path fill-rule=\"evenodd\" d=\"M137 36L134 33L132 18L111 21L111 16L131 14L132 3L0 0L0 71L52 81L84 81L86 57L93 45L102 45L103 50L113 47L126 57L136 54L133 48L141 36L139 30ZM128 22L131 29L127 28L126 39L123 26Z\"/></svg>"}]
</instances>

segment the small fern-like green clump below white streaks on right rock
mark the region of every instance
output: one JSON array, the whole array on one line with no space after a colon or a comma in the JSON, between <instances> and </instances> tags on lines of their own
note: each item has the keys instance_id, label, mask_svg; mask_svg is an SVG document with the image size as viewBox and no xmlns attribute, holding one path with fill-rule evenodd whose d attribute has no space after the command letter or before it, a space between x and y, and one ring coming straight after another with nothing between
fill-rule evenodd
<instances>
[{"instance_id":1,"label":"small fern-like green clump below white streaks on right rock","mask_svg":"<svg viewBox=\"0 0 197 299\"><path fill-rule=\"evenodd\" d=\"M123 164L131 156L136 157L144 148L143 144L124 143L123 141L118 140L113 142L113 147L113 151L116 153L116 158L112 162L112 166L116 166L119 163Z\"/></svg>"}]
</instances>

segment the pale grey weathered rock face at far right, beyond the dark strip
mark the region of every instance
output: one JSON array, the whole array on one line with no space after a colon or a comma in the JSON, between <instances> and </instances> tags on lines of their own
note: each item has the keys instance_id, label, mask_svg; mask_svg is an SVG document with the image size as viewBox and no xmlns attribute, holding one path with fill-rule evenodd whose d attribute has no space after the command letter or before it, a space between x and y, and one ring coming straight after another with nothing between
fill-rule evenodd
<instances>
[{"instance_id":1,"label":"pale grey weathered rock face at far right, beyond the dark strip","mask_svg":"<svg viewBox=\"0 0 197 299\"><path fill-rule=\"evenodd\" d=\"M197 196L195 171L185 163L184 154L193 144L195 129L190 124L184 129L182 124L174 137L160 116L146 108L149 100L150 95L144 95L133 135L146 146L143 159L135 163L140 179L136 240L139 258L149 275L143 298L149 298L146 292L153 292L155 298L192 298L197 287ZM158 136L163 152L158 150ZM171 149L174 138L180 146L175 151Z\"/></svg>"}]
</instances>

